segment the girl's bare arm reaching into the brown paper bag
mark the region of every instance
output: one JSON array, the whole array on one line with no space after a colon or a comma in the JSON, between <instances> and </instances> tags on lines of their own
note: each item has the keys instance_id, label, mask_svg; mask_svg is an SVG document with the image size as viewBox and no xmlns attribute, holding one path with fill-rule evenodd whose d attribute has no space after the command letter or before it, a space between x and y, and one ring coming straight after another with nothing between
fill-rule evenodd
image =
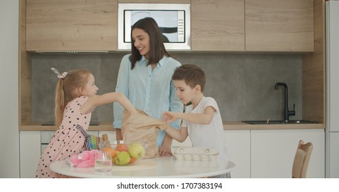
<instances>
[{"instance_id":1,"label":"girl's bare arm reaching into the brown paper bag","mask_svg":"<svg viewBox=\"0 0 339 192\"><path fill-rule=\"evenodd\" d=\"M87 114L94 110L96 106L102 106L104 104L110 104L113 103L114 101L118 101L119 104L122 105L123 108L129 111L134 111L136 112L135 108L131 104L131 101L127 99L126 96L122 93L105 93L104 95L95 95L92 97L89 97L85 104L80 108L80 112L83 114Z\"/></svg>"}]
</instances>

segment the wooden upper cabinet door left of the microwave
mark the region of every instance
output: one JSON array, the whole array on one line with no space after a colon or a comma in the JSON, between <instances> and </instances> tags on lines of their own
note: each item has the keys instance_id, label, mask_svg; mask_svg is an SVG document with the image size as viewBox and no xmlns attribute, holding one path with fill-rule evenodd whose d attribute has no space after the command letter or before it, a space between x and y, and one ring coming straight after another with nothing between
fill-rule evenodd
<instances>
[{"instance_id":1,"label":"wooden upper cabinet door left of the microwave","mask_svg":"<svg viewBox=\"0 0 339 192\"><path fill-rule=\"evenodd\" d=\"M117 0L27 0L26 51L115 51Z\"/></svg>"}]
</instances>

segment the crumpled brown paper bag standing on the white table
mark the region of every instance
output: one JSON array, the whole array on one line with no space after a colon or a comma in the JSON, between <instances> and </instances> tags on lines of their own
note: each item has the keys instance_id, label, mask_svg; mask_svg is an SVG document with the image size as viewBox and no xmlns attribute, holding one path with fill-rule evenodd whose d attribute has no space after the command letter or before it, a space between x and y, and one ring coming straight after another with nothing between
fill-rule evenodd
<instances>
[{"instance_id":1,"label":"crumpled brown paper bag standing on the white table","mask_svg":"<svg viewBox=\"0 0 339 192\"><path fill-rule=\"evenodd\" d=\"M159 147L157 147L157 132L159 128L166 123L159 119L153 119L146 115L142 110L131 112L124 110L122 114L121 133L124 141L148 143L144 158L153 158L159 156Z\"/></svg>"}]
</instances>

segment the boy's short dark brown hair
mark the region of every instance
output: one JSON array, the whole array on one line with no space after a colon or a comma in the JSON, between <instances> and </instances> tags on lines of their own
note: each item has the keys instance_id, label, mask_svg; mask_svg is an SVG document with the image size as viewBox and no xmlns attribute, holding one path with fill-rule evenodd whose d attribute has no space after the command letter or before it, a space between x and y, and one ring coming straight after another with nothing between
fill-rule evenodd
<instances>
[{"instance_id":1,"label":"boy's short dark brown hair","mask_svg":"<svg viewBox=\"0 0 339 192\"><path fill-rule=\"evenodd\" d=\"M199 84L201 92L204 91L206 83L205 72L195 64L183 64L177 67L172 75L172 80L184 80L191 88Z\"/></svg>"}]
</instances>

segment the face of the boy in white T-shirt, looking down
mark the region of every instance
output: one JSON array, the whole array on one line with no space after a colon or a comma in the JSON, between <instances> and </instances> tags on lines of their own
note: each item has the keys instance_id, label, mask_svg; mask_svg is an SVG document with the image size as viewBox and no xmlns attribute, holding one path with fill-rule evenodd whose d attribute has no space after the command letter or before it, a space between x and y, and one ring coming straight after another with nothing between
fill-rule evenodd
<instances>
[{"instance_id":1,"label":"face of the boy in white T-shirt, looking down","mask_svg":"<svg viewBox=\"0 0 339 192\"><path fill-rule=\"evenodd\" d=\"M191 88L184 80L174 80L176 95L183 104L188 104L195 98L196 89Z\"/></svg>"}]
</instances>

